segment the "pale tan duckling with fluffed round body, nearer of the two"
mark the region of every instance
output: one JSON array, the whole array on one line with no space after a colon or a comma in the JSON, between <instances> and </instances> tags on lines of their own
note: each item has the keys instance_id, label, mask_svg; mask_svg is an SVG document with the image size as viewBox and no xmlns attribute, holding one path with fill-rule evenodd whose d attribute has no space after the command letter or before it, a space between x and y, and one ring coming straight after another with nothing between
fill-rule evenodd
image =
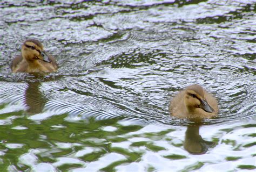
<instances>
[{"instance_id":1,"label":"pale tan duckling with fluffed round body, nearer of the two","mask_svg":"<svg viewBox=\"0 0 256 172\"><path fill-rule=\"evenodd\" d=\"M218 114L218 103L200 85L194 84L172 99L169 112L178 118L211 118Z\"/></svg>"}]
</instances>

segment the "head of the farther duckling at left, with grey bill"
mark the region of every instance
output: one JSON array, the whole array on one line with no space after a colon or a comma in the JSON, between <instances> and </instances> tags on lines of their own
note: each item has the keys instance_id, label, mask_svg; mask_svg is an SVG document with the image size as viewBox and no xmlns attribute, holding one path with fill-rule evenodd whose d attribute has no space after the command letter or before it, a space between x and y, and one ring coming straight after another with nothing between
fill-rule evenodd
<instances>
[{"instance_id":1,"label":"head of the farther duckling at left, with grey bill","mask_svg":"<svg viewBox=\"0 0 256 172\"><path fill-rule=\"evenodd\" d=\"M44 47L36 39L28 39L22 45L22 56L28 62L42 60L50 63L49 56L44 52Z\"/></svg>"}]
</instances>

